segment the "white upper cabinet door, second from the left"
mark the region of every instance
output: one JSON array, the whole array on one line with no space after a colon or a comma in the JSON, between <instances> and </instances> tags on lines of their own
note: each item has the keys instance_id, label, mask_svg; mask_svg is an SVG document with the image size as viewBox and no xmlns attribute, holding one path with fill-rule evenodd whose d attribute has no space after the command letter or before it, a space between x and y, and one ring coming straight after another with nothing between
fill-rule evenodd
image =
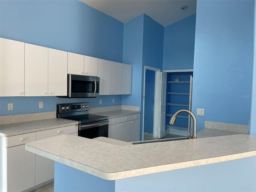
<instances>
[{"instance_id":1,"label":"white upper cabinet door, second from the left","mask_svg":"<svg viewBox=\"0 0 256 192\"><path fill-rule=\"evenodd\" d=\"M48 48L25 43L25 96L48 95Z\"/></svg>"}]
</instances>

